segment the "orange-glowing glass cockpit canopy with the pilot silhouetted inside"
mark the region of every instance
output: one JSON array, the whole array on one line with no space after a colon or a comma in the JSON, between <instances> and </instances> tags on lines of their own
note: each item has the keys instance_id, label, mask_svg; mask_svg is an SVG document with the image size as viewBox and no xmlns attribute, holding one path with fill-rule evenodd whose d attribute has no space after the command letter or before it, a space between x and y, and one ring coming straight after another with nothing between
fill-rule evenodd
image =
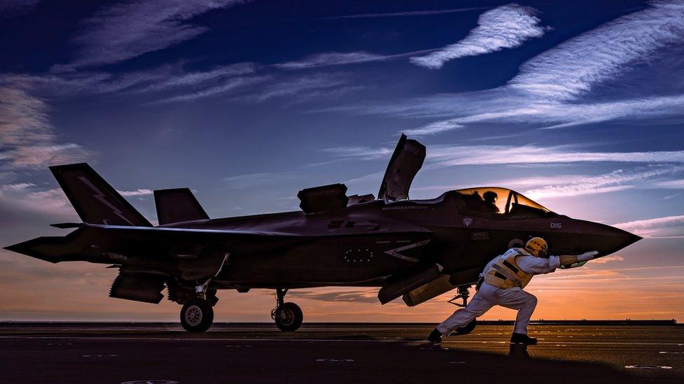
<instances>
[{"instance_id":1,"label":"orange-glowing glass cockpit canopy with the pilot silhouetted inside","mask_svg":"<svg viewBox=\"0 0 684 384\"><path fill-rule=\"evenodd\" d=\"M500 187L457 190L458 211L474 216L529 218L555 215L541 204L518 192Z\"/></svg>"}]
</instances>

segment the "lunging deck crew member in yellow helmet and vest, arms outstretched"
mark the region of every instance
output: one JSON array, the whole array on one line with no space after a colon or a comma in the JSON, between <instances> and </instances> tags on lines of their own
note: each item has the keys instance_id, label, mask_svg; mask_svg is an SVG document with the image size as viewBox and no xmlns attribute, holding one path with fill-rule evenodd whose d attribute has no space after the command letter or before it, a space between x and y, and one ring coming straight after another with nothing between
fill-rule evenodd
<instances>
[{"instance_id":1,"label":"lunging deck crew member in yellow helmet and vest, arms outstretched","mask_svg":"<svg viewBox=\"0 0 684 384\"><path fill-rule=\"evenodd\" d=\"M470 303L437 325L427 340L431 343L441 343L442 336L451 333L457 327L464 327L475 318L484 315L491 307L500 305L518 311L511 343L535 345L537 339L527 336L527 325L537 306L537 298L525 292L524 287L532 276L551 273L561 265L585 262L598 254L592 251L576 256L548 256L547 250L547 242L540 237L534 237L524 248L511 248L503 255L495 257L480 274L481 287Z\"/></svg>"}]
</instances>

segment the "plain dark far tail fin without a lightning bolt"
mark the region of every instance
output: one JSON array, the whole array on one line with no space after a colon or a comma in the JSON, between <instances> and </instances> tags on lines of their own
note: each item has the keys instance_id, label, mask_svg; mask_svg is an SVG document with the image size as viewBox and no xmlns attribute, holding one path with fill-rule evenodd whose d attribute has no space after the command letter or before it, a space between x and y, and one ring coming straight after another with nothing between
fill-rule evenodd
<instances>
[{"instance_id":1,"label":"plain dark far tail fin without a lightning bolt","mask_svg":"<svg viewBox=\"0 0 684 384\"><path fill-rule=\"evenodd\" d=\"M207 220L209 216L189 188L154 191L159 225Z\"/></svg>"}]
</instances>

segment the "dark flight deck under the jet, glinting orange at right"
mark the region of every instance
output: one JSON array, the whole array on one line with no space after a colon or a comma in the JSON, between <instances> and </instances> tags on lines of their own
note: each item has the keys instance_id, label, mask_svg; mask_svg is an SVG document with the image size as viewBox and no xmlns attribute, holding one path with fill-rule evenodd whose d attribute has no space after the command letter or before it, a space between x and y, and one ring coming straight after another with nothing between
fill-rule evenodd
<instances>
[{"instance_id":1,"label":"dark flight deck under the jet, glinting orange at right","mask_svg":"<svg viewBox=\"0 0 684 384\"><path fill-rule=\"evenodd\" d=\"M591 324L591 323L589 323ZM682 383L684 326L535 324L538 346L510 346L512 326L478 325L442 346L434 325L215 323L0 324L1 383Z\"/></svg>"}]
</instances>

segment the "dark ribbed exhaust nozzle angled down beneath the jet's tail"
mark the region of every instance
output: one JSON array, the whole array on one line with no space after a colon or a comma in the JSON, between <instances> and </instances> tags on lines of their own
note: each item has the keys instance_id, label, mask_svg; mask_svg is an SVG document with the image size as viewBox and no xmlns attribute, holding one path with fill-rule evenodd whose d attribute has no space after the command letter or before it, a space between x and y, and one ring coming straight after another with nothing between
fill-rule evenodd
<instances>
[{"instance_id":1,"label":"dark ribbed exhaust nozzle angled down beneath the jet's tail","mask_svg":"<svg viewBox=\"0 0 684 384\"><path fill-rule=\"evenodd\" d=\"M164 297L161 291L165 280L165 276L153 273L119 271L114 283L111 283L109 297L159 304Z\"/></svg>"}]
</instances>

